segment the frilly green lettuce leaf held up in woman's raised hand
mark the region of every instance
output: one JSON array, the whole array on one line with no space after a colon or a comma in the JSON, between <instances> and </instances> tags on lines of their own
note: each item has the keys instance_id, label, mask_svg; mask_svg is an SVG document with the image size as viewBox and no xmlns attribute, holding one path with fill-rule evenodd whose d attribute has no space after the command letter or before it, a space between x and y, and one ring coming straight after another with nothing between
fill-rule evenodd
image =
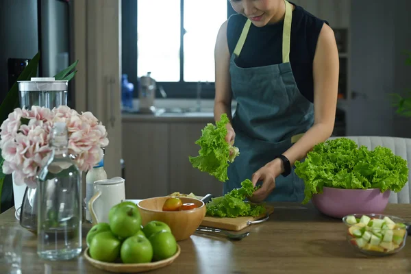
<instances>
[{"instance_id":1,"label":"frilly green lettuce leaf held up in woman's raised hand","mask_svg":"<svg viewBox=\"0 0 411 274\"><path fill-rule=\"evenodd\" d=\"M201 130L201 137L195 142L201 149L196 157L189 156L190 163L200 171L207 172L221 182L228 179L227 168L230 162L240 154L237 147L229 145L225 141L229 123L227 114L222 114L216 125L208 123ZM231 152L231 153L230 153Z\"/></svg>"}]
</instances>

